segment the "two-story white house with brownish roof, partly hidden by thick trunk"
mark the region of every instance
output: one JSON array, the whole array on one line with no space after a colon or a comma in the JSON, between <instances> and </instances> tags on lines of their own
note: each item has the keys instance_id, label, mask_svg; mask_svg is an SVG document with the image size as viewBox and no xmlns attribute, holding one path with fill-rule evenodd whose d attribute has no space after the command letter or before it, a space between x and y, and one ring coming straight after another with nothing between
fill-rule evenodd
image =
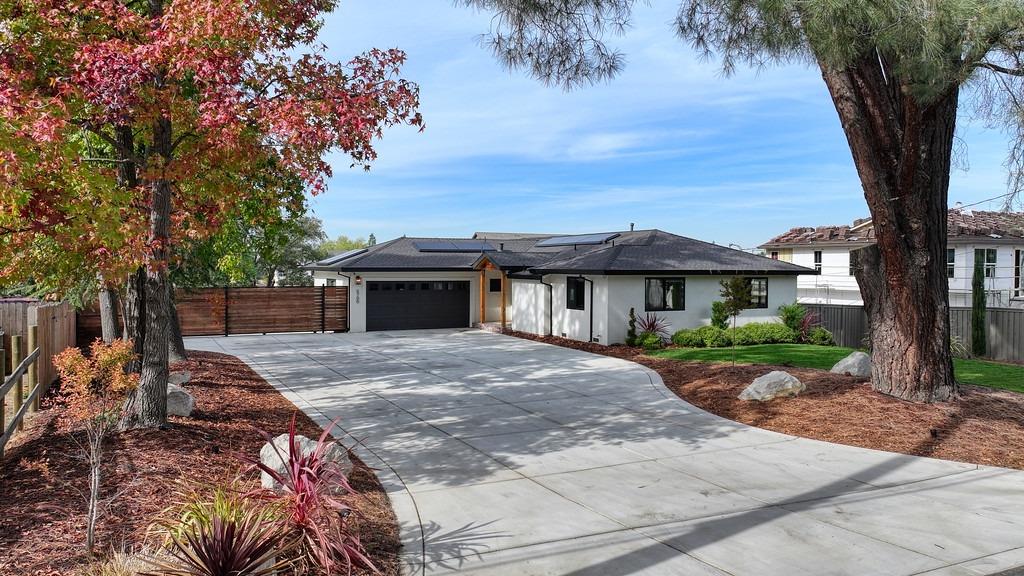
<instances>
[{"instance_id":1,"label":"two-story white house with brownish roof, partly hidden by thick trunk","mask_svg":"<svg viewBox=\"0 0 1024 576\"><path fill-rule=\"evenodd\" d=\"M971 305L975 258L985 261L985 291L990 306L1024 307L1024 212L982 212L953 208L946 219L944 262L949 303ZM815 269L801 276L801 302L861 304L860 289L850 266L850 251L874 242L869 218L853 225L795 228L761 248L772 258Z\"/></svg>"}]
</instances>

